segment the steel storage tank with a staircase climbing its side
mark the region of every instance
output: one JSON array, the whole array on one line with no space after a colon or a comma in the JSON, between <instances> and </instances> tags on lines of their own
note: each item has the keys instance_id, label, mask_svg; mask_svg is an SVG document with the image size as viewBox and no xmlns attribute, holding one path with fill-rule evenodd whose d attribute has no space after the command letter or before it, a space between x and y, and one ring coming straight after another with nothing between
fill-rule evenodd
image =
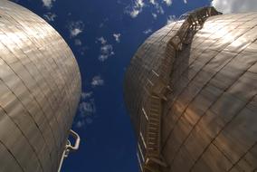
<instances>
[{"instance_id":1,"label":"steel storage tank with a staircase climbing its side","mask_svg":"<svg viewBox=\"0 0 257 172\"><path fill-rule=\"evenodd\" d=\"M139 47L124 97L141 171L257 170L256 19L205 7Z\"/></svg>"}]
</instances>

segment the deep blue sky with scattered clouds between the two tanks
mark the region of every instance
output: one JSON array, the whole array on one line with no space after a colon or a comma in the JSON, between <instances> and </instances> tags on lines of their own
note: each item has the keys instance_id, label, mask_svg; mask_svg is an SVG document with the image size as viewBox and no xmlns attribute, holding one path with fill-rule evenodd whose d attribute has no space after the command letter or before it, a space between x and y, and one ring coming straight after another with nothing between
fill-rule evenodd
<instances>
[{"instance_id":1,"label":"deep blue sky with scattered clouds between the two tanks","mask_svg":"<svg viewBox=\"0 0 257 172\"><path fill-rule=\"evenodd\" d=\"M138 171L136 140L122 97L126 67L151 33L186 11L210 5L210 0L16 2L42 16L61 33L80 66L81 103L72 129L81 136L81 148L65 159L62 171ZM224 2L233 4L232 0L214 1L226 13L233 11L235 7L224 7Z\"/></svg>"}]
</instances>

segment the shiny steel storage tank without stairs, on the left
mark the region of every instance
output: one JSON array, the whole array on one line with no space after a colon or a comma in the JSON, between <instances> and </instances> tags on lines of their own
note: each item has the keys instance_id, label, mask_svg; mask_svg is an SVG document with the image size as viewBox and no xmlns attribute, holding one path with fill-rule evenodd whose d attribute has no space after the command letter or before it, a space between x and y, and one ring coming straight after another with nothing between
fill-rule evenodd
<instances>
[{"instance_id":1,"label":"shiny steel storage tank without stairs, on the left","mask_svg":"<svg viewBox=\"0 0 257 172\"><path fill-rule=\"evenodd\" d=\"M80 95L79 67L62 36L1 0L0 171L57 171Z\"/></svg>"}]
</instances>

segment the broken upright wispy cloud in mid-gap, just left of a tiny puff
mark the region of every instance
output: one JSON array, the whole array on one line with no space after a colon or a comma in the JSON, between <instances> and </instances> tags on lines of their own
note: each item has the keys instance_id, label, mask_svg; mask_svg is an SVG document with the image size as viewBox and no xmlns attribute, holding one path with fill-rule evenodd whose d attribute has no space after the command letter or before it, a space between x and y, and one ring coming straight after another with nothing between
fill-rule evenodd
<instances>
[{"instance_id":1,"label":"broken upright wispy cloud in mid-gap, just left of a tiny puff","mask_svg":"<svg viewBox=\"0 0 257 172\"><path fill-rule=\"evenodd\" d=\"M114 55L113 47L111 44L107 43L104 37L98 38L97 41L101 43L99 60L100 62L104 62L110 56Z\"/></svg>"}]
</instances>

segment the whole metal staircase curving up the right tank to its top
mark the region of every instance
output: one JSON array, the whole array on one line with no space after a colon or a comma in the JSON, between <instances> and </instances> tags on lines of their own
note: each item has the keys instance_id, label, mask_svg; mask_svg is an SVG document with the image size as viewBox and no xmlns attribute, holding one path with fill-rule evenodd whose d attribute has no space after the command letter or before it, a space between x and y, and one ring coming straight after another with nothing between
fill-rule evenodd
<instances>
[{"instance_id":1,"label":"whole metal staircase curving up the right tank to its top","mask_svg":"<svg viewBox=\"0 0 257 172\"><path fill-rule=\"evenodd\" d=\"M176 54L181 52L183 44L191 43L194 34L202 28L205 20L209 16L217 14L221 13L217 12L214 7L203 7L183 14L179 20L184 22L175 36L167 43L167 51L173 49L172 51L175 51ZM167 55L166 58L171 57ZM176 57L172 58L176 59ZM151 78L148 79L145 87L148 96L142 103L141 129L138 137L138 161L141 172L160 172L161 167L167 167L160 152L162 101L166 101L166 95L172 91L168 85L167 68L170 66L163 62L159 74L152 70ZM172 71L172 69L169 70Z\"/></svg>"}]
</instances>

